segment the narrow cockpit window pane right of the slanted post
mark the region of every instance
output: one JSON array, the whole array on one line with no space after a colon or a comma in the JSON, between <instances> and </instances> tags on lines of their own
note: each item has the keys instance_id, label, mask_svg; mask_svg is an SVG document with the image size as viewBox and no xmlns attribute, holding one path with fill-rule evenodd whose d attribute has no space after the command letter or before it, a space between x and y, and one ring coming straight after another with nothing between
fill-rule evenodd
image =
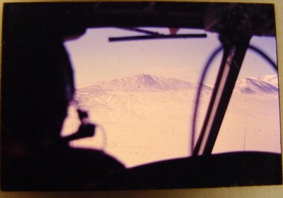
<instances>
[{"instance_id":1,"label":"narrow cockpit window pane right of the slanted post","mask_svg":"<svg viewBox=\"0 0 283 198\"><path fill-rule=\"evenodd\" d=\"M275 38L253 37L250 44L263 49L276 63ZM227 151L281 153L278 86L277 72L264 58L248 51L214 154Z\"/></svg>"}]
</instances>

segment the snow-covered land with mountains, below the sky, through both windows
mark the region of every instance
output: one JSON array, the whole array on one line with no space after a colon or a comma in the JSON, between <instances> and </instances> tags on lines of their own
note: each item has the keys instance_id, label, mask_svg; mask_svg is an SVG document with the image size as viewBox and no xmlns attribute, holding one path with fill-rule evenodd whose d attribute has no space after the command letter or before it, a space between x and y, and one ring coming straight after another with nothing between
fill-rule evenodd
<instances>
[{"instance_id":1,"label":"snow-covered land with mountains, below the sky, through both windows","mask_svg":"<svg viewBox=\"0 0 283 198\"><path fill-rule=\"evenodd\" d=\"M96 123L96 135L71 147L102 149L127 167L190 156L196 90L190 82L145 74L98 82L77 91L62 136L79 128L79 106ZM197 131L211 93L204 85ZM229 151L281 152L277 75L236 83L213 153Z\"/></svg>"}]
</instances>

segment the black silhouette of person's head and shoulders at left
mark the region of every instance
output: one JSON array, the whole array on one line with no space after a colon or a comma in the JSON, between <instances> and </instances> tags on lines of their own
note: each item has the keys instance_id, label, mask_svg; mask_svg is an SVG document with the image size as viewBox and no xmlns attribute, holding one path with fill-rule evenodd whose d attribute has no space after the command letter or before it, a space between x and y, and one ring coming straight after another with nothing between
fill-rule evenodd
<instances>
[{"instance_id":1,"label":"black silhouette of person's head and shoulders at left","mask_svg":"<svg viewBox=\"0 0 283 198\"><path fill-rule=\"evenodd\" d=\"M75 90L63 41L85 31L76 11L87 9L80 8L63 4L4 5L4 190L93 189L105 176L124 168L101 151L71 149L60 136Z\"/></svg>"}]
</instances>

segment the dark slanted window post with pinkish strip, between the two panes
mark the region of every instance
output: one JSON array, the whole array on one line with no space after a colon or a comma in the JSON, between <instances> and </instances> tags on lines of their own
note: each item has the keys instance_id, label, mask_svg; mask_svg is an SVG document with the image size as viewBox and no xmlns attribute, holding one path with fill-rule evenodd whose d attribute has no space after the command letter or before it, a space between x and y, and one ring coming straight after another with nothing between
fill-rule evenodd
<instances>
[{"instance_id":1,"label":"dark slanted window post with pinkish strip, between the two panes","mask_svg":"<svg viewBox=\"0 0 283 198\"><path fill-rule=\"evenodd\" d=\"M212 154L249 41L250 39L243 39L238 44L224 45L224 55L219 74L209 103L207 116L204 119L204 125L193 152L194 156Z\"/></svg>"}]
</instances>

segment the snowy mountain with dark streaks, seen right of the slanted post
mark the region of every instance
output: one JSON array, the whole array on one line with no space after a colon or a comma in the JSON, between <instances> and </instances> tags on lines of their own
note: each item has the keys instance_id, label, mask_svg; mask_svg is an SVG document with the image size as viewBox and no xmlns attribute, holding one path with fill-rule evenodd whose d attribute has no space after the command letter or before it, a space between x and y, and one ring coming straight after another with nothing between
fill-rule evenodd
<instances>
[{"instance_id":1,"label":"snowy mountain with dark streaks, seen right of the slanted post","mask_svg":"<svg viewBox=\"0 0 283 198\"><path fill-rule=\"evenodd\" d=\"M256 78L242 78L236 82L235 89L244 94L256 92L277 93L278 78L277 75L265 75Z\"/></svg>"}]
</instances>

